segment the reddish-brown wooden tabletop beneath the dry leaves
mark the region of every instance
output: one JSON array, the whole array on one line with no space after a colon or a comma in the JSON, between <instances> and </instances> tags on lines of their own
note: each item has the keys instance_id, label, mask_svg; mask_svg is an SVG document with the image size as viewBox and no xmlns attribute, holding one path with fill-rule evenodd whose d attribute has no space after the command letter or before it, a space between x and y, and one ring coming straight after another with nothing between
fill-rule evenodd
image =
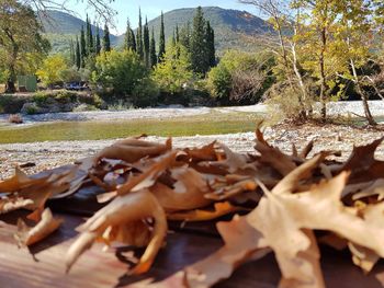
<instances>
[{"instance_id":1,"label":"reddish-brown wooden tabletop beneath the dry leaves","mask_svg":"<svg viewBox=\"0 0 384 288\"><path fill-rule=\"evenodd\" d=\"M25 214L24 214L25 215ZM13 233L21 212L2 216L0 219L0 287L125 287L139 279L153 277L161 280L172 273L192 264L222 245L218 238L207 233L173 232L168 235L167 246L161 250L153 269L142 277L126 275L128 267L121 252L102 252L97 244L86 252L69 275L65 274L64 255L76 237L74 230L83 219L79 216L58 215L65 224L55 234L31 250L18 249ZM195 229L195 228L194 228ZM203 229L204 231L204 229ZM382 287L384 265L380 263L373 273L364 276L351 264L348 253L321 249L327 287ZM377 276L379 274L379 276ZM235 275L217 287L276 287L280 272L273 255L241 266Z\"/></svg>"}]
</instances>

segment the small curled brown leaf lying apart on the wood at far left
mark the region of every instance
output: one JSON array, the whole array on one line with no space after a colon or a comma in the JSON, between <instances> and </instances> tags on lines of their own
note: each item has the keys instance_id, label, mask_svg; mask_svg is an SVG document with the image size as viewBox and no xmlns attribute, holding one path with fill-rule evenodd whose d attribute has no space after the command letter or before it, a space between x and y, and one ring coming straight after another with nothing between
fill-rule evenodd
<instances>
[{"instance_id":1,"label":"small curled brown leaf lying apart on the wood at far left","mask_svg":"<svg viewBox=\"0 0 384 288\"><path fill-rule=\"evenodd\" d=\"M18 221L15 238L20 246L33 245L55 232L63 223L61 219L55 219L47 208L42 214L42 220L33 228L27 227L23 220Z\"/></svg>"}]
</instances>

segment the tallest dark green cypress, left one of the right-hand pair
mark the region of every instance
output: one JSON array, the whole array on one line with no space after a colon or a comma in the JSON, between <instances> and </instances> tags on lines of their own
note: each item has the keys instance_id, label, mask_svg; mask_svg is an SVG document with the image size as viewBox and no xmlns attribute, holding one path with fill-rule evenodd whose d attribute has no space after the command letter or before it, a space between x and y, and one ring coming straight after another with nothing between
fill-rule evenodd
<instances>
[{"instance_id":1,"label":"tallest dark green cypress, left one of the right-hand pair","mask_svg":"<svg viewBox=\"0 0 384 288\"><path fill-rule=\"evenodd\" d=\"M197 7L193 19L193 32L191 38L191 62L194 72L205 76L210 69L205 37L205 20L203 9Z\"/></svg>"}]
</instances>

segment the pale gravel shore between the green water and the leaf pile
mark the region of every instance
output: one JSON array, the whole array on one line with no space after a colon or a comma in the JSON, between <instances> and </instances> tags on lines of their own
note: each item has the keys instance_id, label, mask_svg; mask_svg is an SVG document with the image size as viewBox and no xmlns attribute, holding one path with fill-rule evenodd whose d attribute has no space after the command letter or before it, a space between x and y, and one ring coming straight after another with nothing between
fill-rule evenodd
<instances>
[{"instance_id":1,"label":"pale gravel shore between the green water and the leaf pile","mask_svg":"<svg viewBox=\"0 0 384 288\"><path fill-rule=\"evenodd\" d=\"M352 128L348 126L306 124L303 126L279 125L267 128L266 139L273 146L285 152L292 151L294 142L298 149L308 141L315 140L314 153L320 150L338 150L342 152L341 159L348 158L353 145L364 145L384 137L384 131ZM148 137L151 141L165 141L165 138ZM255 152L253 133L194 136L173 138L174 147L195 147L218 140L238 152ZM9 177L14 172L15 165L34 163L34 166L25 169L27 173L36 173L42 170L72 163L74 161L92 155L102 148L110 146L115 140L98 141L59 141L37 143L12 143L0 146L0 178ZM376 157L384 160L384 145Z\"/></svg>"}]
</instances>

